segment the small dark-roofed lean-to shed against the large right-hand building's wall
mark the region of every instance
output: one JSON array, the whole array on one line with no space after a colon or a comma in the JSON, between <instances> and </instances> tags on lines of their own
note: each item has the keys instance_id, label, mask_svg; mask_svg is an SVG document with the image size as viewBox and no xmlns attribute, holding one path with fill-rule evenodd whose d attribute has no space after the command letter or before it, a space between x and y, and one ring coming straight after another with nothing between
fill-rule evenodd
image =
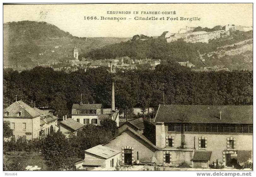
<instances>
[{"instance_id":1,"label":"small dark-roofed lean-to shed against the large right-hand building's wall","mask_svg":"<svg viewBox=\"0 0 256 177\"><path fill-rule=\"evenodd\" d=\"M209 168L211 151L195 151L193 156L193 168Z\"/></svg>"}]
</instances>

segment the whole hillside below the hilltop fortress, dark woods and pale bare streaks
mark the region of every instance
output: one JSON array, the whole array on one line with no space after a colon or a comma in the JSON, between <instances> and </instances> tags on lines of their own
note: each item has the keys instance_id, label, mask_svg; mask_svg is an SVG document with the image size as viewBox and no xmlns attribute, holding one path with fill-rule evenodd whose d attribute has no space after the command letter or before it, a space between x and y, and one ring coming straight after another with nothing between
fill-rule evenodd
<instances>
[{"instance_id":1,"label":"whole hillside below the hilltop fortress, dark woods and pale bare streaks","mask_svg":"<svg viewBox=\"0 0 256 177\"><path fill-rule=\"evenodd\" d=\"M130 40L90 51L85 57L104 59L129 56L136 59L190 61L195 69L219 65L229 69L236 66L252 70L252 38L253 31L235 31L230 36L211 40L209 43L186 43L183 40L167 43L165 38Z\"/></svg>"}]
</instances>

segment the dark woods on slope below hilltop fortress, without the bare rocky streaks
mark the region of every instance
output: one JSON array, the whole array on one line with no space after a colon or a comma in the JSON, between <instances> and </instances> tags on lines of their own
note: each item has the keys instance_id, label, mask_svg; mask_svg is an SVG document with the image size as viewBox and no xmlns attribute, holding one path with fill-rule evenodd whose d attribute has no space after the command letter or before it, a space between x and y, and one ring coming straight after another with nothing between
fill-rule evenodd
<instances>
[{"instance_id":1,"label":"dark woods on slope below hilltop fortress, without the bare rocky streaks","mask_svg":"<svg viewBox=\"0 0 256 177\"><path fill-rule=\"evenodd\" d=\"M217 48L224 45L234 44L236 42L251 39L253 32L235 31L226 37L226 40L211 40L206 43L186 43L183 40L177 40L170 43L165 38L148 38L147 40L129 40L109 46L104 46L84 54L86 58L104 59L129 56L134 59L152 58L167 61L190 61L196 67L203 67L203 63L198 60L199 53L208 53L217 51Z\"/></svg>"}]
</instances>

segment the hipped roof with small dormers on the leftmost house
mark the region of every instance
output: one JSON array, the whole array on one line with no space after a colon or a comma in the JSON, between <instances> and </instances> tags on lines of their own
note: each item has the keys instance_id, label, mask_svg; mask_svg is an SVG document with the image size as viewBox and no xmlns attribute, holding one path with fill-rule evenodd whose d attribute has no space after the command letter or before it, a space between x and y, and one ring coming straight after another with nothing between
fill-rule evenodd
<instances>
[{"instance_id":1,"label":"hipped roof with small dormers on the leftmost house","mask_svg":"<svg viewBox=\"0 0 256 177\"><path fill-rule=\"evenodd\" d=\"M5 115L5 112L9 112L9 116ZM17 117L17 113L21 112L20 117L33 118L40 115L40 113L34 110L32 107L24 103L23 101L16 101L9 105L5 110L3 110L4 117Z\"/></svg>"}]
</instances>

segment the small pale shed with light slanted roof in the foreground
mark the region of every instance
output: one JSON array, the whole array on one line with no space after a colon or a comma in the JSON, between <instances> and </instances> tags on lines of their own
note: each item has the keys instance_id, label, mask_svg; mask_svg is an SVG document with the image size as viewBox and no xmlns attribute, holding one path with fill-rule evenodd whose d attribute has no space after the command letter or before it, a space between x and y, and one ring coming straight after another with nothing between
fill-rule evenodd
<instances>
[{"instance_id":1,"label":"small pale shed with light slanted roof in the foreground","mask_svg":"<svg viewBox=\"0 0 256 177\"><path fill-rule=\"evenodd\" d=\"M86 167L115 167L119 165L121 151L98 145L84 151Z\"/></svg>"}]
</instances>

